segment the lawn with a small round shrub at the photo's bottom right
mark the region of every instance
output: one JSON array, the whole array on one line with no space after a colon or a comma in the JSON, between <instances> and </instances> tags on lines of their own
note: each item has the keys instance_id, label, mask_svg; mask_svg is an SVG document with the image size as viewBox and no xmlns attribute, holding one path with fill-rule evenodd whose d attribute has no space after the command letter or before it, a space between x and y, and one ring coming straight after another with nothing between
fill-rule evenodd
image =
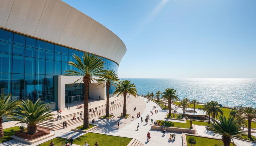
<instances>
[{"instance_id":1,"label":"lawn with a small round shrub at the photo's bottom right","mask_svg":"<svg viewBox=\"0 0 256 146\"><path fill-rule=\"evenodd\" d=\"M196 136L188 136L186 135L187 139L187 145L191 145L188 143L188 138L189 137L194 137L196 139L196 144L193 146L215 146L217 144L218 146L224 145L222 140L217 140L217 139L210 139L210 138L202 138L202 137L196 137ZM231 144L230 144L231 145Z\"/></svg>"}]
</instances>

